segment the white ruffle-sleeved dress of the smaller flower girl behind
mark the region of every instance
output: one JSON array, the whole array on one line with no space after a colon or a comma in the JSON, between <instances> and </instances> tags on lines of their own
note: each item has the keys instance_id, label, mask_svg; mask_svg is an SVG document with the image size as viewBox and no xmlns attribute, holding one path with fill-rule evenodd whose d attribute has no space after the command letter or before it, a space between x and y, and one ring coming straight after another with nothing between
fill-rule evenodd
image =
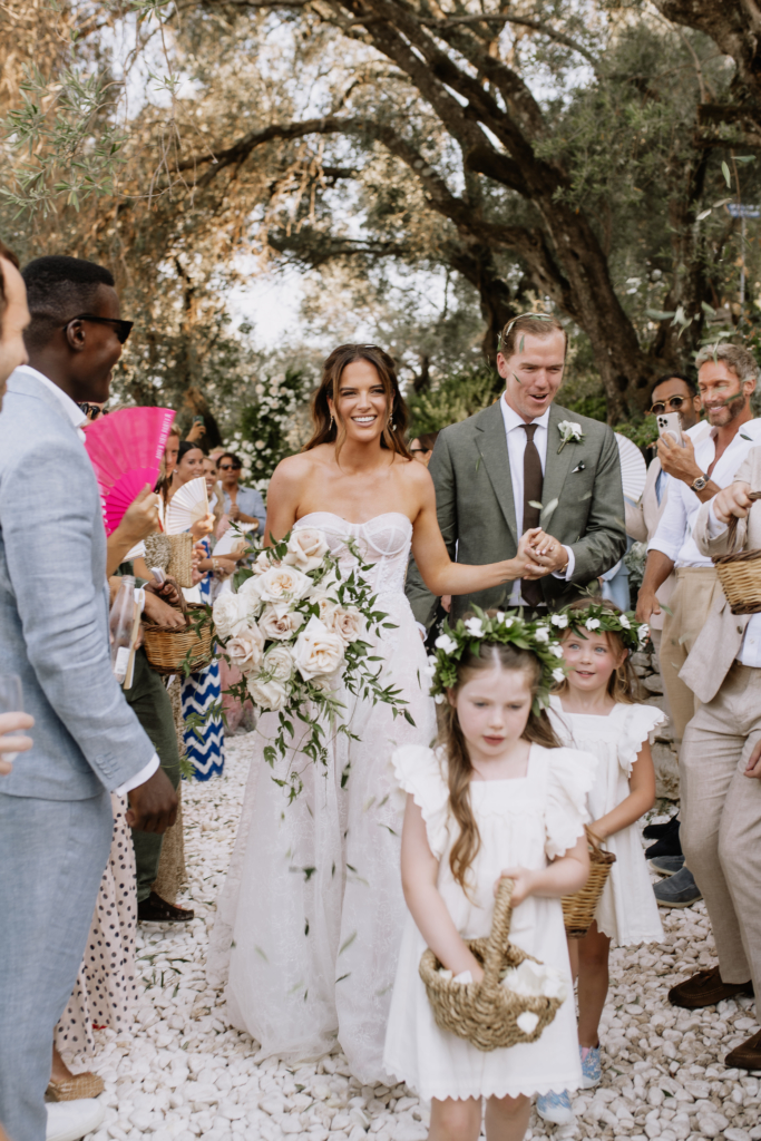
<instances>
[{"instance_id":1,"label":"white ruffle-sleeved dress of the smaller flower girl behind","mask_svg":"<svg viewBox=\"0 0 761 1141\"><path fill-rule=\"evenodd\" d=\"M666 720L651 705L614 705L607 717L566 713L560 697L550 698L550 720L566 745L597 759L588 796L592 820L613 811L629 795L629 777L637 754L656 726ZM605 842L616 857L594 917L600 931L620 947L663 942L658 905L642 851L639 824L630 824Z\"/></svg>"}]
</instances>

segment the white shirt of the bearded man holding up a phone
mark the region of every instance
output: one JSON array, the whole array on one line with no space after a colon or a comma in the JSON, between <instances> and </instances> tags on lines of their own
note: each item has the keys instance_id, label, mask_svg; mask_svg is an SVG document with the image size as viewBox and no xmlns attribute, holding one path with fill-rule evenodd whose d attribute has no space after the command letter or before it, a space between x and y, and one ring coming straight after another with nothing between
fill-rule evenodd
<instances>
[{"instance_id":1,"label":"white shirt of the bearded man holding up a phone","mask_svg":"<svg viewBox=\"0 0 761 1141\"><path fill-rule=\"evenodd\" d=\"M726 487L735 478L740 463L761 442L761 420L748 420L740 426L731 444L711 472L711 479L719 487ZM701 471L707 471L717 454L711 431L695 440L695 462ZM647 545L648 551L662 551L678 567L712 567L713 563L701 555L693 539L695 516L701 501L695 492L681 479L669 480L669 500L658 528Z\"/></svg>"}]
</instances>

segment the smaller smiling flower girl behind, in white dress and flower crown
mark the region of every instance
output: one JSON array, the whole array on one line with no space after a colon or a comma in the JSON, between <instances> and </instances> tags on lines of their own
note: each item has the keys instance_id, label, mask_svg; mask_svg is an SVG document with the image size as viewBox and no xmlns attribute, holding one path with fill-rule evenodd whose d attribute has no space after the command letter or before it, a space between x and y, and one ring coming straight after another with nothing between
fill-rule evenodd
<instances>
[{"instance_id":1,"label":"smaller smiling flower girl behind, in white dress and flower crown","mask_svg":"<svg viewBox=\"0 0 761 1141\"><path fill-rule=\"evenodd\" d=\"M588 807L590 830L616 857L584 939L569 941L578 974L578 1052L583 1085L601 1078L600 1015L608 993L610 940L618 947L662 942L663 928L637 822L655 802L655 771L648 734L665 721L659 710L632 697L630 654L647 639L633 614L613 602L580 600L551 622L562 629L566 680L550 699L550 720L566 745L597 759ZM545 1120L570 1120L567 1094L540 1099Z\"/></svg>"}]
</instances>

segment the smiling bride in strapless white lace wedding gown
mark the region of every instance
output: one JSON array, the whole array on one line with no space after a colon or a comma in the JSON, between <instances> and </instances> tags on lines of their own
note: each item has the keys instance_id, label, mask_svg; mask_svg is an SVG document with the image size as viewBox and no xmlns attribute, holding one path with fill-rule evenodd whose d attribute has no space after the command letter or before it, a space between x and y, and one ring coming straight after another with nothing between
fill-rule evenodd
<instances>
[{"instance_id":1,"label":"smiling bride in strapless white lace wedding gown","mask_svg":"<svg viewBox=\"0 0 761 1141\"><path fill-rule=\"evenodd\" d=\"M390 755L429 744L436 731L426 653L404 594L410 548L429 590L464 594L527 572L529 532L515 559L487 566L450 560L436 518L434 484L411 460L407 410L391 357L372 345L341 345L324 364L313 406L315 430L269 485L267 542L291 529L322 531L342 567L374 564L378 608L389 615L373 653L383 683L402 690L414 727L388 705L346 691L349 728L335 735L325 770L302 756L303 790L289 803L276 783L293 758L264 760L276 714L258 725L254 755L227 881L218 901L209 977L225 977L233 1023L260 1043L259 1058L298 1062L337 1041L365 1084L384 1078L383 1038L405 914L399 873L404 798ZM507 459L507 445L505 445ZM355 547L356 543L356 547Z\"/></svg>"}]
</instances>

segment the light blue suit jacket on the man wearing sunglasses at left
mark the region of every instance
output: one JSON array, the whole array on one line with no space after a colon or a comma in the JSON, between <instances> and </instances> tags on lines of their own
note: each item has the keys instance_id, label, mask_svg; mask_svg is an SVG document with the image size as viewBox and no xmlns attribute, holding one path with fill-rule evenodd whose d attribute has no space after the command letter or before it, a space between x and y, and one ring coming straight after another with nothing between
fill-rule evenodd
<instances>
[{"instance_id":1,"label":"light blue suit jacket on the man wearing sunglasses at left","mask_svg":"<svg viewBox=\"0 0 761 1141\"><path fill-rule=\"evenodd\" d=\"M137 776L154 748L111 672L106 535L76 429L15 372L0 412L0 673L34 718L0 792L84 800Z\"/></svg>"}]
</instances>

